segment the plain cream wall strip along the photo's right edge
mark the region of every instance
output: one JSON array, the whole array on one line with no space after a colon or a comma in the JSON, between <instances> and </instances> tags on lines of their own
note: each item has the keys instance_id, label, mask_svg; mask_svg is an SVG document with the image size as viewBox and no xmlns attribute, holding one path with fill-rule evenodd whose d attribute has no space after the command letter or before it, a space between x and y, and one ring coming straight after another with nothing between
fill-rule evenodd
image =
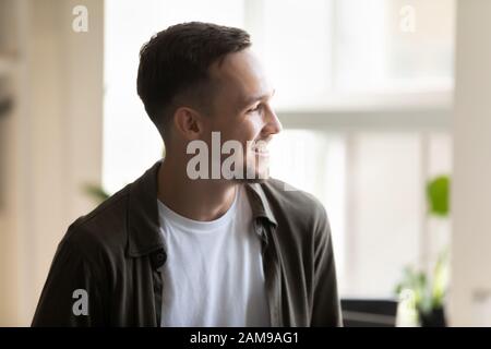
<instances>
[{"instance_id":1,"label":"plain cream wall strip along the photo's right edge","mask_svg":"<svg viewBox=\"0 0 491 349\"><path fill-rule=\"evenodd\" d=\"M459 0L452 325L491 326L491 1Z\"/></svg>"}]
</instances>

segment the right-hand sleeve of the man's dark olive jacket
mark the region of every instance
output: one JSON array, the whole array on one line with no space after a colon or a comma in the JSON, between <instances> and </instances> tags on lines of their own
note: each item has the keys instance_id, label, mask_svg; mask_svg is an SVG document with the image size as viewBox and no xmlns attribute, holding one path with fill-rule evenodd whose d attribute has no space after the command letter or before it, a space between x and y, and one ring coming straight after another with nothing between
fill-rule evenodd
<instances>
[{"instance_id":1,"label":"right-hand sleeve of the man's dark olive jacket","mask_svg":"<svg viewBox=\"0 0 491 349\"><path fill-rule=\"evenodd\" d=\"M331 228L324 207L314 224L314 292L311 326L343 326Z\"/></svg>"}]
</instances>

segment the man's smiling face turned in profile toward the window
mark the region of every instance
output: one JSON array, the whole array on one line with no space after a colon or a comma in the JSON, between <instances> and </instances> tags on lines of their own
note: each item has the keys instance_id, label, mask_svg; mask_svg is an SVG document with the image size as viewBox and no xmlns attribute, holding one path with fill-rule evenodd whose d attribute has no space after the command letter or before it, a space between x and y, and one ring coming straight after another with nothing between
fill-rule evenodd
<instances>
[{"instance_id":1,"label":"man's smiling face turned in profile toward the window","mask_svg":"<svg viewBox=\"0 0 491 349\"><path fill-rule=\"evenodd\" d=\"M213 115L206 118L205 133L220 132L220 141L242 144L243 178L267 178L267 143L282 130L271 99L274 89L258 58L249 49L227 55L211 68L215 82ZM249 173L249 174L247 174Z\"/></svg>"}]
</instances>

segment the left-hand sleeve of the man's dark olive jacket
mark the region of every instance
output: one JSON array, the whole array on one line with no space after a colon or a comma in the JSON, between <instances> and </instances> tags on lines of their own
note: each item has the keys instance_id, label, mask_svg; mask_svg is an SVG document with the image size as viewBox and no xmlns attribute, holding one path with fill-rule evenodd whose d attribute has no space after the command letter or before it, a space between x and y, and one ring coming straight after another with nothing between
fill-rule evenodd
<instances>
[{"instance_id":1,"label":"left-hand sleeve of the man's dark olive jacket","mask_svg":"<svg viewBox=\"0 0 491 349\"><path fill-rule=\"evenodd\" d=\"M84 250L87 250L86 244L73 240L64 239L59 244L34 314L33 327L104 325L95 261L91 261Z\"/></svg>"}]
</instances>

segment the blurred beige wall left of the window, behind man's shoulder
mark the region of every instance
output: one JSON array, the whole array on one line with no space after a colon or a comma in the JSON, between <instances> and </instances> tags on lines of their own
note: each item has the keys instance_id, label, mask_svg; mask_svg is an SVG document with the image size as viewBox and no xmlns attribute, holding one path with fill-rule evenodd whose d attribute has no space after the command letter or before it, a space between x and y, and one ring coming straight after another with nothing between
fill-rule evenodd
<instances>
[{"instance_id":1,"label":"blurred beige wall left of the window, behind man's shoulder","mask_svg":"<svg viewBox=\"0 0 491 349\"><path fill-rule=\"evenodd\" d=\"M0 325L31 323L58 242L94 206L82 185L99 182L101 168L104 2L14 3L3 13L15 17L19 47L2 164ZM72 29L79 4L88 10L87 33Z\"/></svg>"}]
</instances>

